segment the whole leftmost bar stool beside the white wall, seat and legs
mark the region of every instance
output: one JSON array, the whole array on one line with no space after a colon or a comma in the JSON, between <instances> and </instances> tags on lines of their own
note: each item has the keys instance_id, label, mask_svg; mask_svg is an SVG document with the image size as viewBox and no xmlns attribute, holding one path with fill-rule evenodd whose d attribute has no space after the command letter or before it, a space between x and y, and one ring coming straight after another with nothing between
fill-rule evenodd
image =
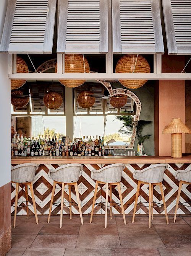
<instances>
[{"instance_id":1,"label":"whole leftmost bar stool beside the white wall, seat and legs","mask_svg":"<svg viewBox=\"0 0 191 256\"><path fill-rule=\"evenodd\" d=\"M34 199L34 190L32 186L32 181L34 181L36 170L39 168L35 163L23 163L22 165L16 165L11 167L11 183L16 183L16 195L15 195L15 216L14 216L14 228L16 225L16 213L18 207L18 196L19 196L19 185L25 185L25 195L26 195L26 213L27 218L29 218L29 199L28 199L28 185L31 190L32 204L34 207L34 215L36 218L36 223L38 222L36 203Z\"/></svg>"}]
</instances>

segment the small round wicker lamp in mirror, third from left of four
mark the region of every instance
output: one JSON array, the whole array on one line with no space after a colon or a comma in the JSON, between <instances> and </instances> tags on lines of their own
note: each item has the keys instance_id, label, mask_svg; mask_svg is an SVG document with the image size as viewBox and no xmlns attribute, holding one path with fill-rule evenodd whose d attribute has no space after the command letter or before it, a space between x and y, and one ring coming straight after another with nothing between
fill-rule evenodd
<instances>
[{"instance_id":1,"label":"small round wicker lamp in mirror, third from left of four","mask_svg":"<svg viewBox=\"0 0 191 256\"><path fill-rule=\"evenodd\" d=\"M78 104L81 108L91 108L95 103L95 98L89 96L92 95L92 91L83 90L78 95Z\"/></svg>"}]
</instances>

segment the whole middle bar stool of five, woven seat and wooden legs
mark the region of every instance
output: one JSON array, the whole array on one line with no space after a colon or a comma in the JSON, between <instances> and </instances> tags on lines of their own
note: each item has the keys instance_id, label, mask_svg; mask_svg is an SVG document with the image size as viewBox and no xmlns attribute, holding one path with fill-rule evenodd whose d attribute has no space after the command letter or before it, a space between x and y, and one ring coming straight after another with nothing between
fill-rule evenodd
<instances>
[{"instance_id":1,"label":"whole middle bar stool of five, woven seat and wooden legs","mask_svg":"<svg viewBox=\"0 0 191 256\"><path fill-rule=\"evenodd\" d=\"M97 188L98 188L99 184L106 184L105 228L107 228L108 187L110 190L110 202L109 202L110 203L110 218L112 219L112 185L117 185L120 203L121 203L121 210L122 210L122 214L123 214L123 220L126 225L125 211L124 211L124 207L123 207L123 199L122 199L121 188L120 188L122 171L124 169L125 169L125 165L120 163L120 164L108 165L99 170L92 170L91 178L94 179L96 181L96 183L95 183L95 192L94 192L94 198L93 198L93 203L92 203L90 223L92 223L95 200L96 200L96 195L97 195Z\"/></svg>"}]
</instances>

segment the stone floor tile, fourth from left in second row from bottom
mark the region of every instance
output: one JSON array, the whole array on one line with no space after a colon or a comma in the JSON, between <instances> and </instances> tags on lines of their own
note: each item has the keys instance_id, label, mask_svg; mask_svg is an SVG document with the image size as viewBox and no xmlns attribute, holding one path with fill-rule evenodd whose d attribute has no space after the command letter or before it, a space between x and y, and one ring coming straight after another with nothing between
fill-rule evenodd
<instances>
[{"instance_id":1,"label":"stone floor tile, fourth from left in second row from bottom","mask_svg":"<svg viewBox=\"0 0 191 256\"><path fill-rule=\"evenodd\" d=\"M121 248L165 247L159 235L120 235Z\"/></svg>"}]
</instances>

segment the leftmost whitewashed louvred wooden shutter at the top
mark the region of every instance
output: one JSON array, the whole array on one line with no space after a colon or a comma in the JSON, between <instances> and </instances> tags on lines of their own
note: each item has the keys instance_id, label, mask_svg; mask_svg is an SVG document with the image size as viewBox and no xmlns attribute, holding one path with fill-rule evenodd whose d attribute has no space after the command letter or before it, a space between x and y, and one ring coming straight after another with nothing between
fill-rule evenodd
<instances>
[{"instance_id":1,"label":"leftmost whitewashed louvred wooden shutter at the top","mask_svg":"<svg viewBox=\"0 0 191 256\"><path fill-rule=\"evenodd\" d=\"M8 0L1 52L52 53L56 0Z\"/></svg>"}]
</instances>

